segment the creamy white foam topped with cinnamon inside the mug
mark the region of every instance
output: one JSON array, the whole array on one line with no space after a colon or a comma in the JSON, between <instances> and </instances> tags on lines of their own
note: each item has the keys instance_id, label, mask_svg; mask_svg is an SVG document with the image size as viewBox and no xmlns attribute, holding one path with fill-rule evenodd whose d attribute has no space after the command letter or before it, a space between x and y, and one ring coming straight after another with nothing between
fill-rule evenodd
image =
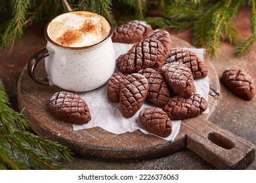
<instances>
[{"instance_id":1,"label":"creamy white foam topped with cinnamon inside the mug","mask_svg":"<svg viewBox=\"0 0 256 183\"><path fill-rule=\"evenodd\" d=\"M54 18L47 27L47 34L62 46L84 47L104 40L110 29L110 24L103 16L77 11Z\"/></svg>"}]
</instances>

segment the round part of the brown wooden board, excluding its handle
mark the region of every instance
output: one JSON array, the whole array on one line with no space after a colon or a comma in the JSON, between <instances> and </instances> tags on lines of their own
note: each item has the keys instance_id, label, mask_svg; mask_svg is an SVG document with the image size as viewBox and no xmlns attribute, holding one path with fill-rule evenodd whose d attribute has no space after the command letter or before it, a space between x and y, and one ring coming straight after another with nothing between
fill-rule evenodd
<instances>
[{"instance_id":1,"label":"round part of the brown wooden board, excluding its handle","mask_svg":"<svg viewBox=\"0 0 256 183\"><path fill-rule=\"evenodd\" d=\"M171 37L177 47L193 48L188 42ZM214 67L205 56L209 69L209 113L202 114L208 120L217 106L220 92L219 78ZM39 75L45 75L43 61L39 63ZM186 134L181 131L173 142L154 135L146 135L139 130L116 135L100 127L74 131L72 124L56 118L49 109L49 99L55 92L63 91L57 86L36 84L28 76L26 67L18 80L18 106L30 121L30 127L37 135L68 146L76 154L106 159L148 159L166 156L186 148ZM189 120L194 120L190 118Z\"/></svg>"}]
</instances>

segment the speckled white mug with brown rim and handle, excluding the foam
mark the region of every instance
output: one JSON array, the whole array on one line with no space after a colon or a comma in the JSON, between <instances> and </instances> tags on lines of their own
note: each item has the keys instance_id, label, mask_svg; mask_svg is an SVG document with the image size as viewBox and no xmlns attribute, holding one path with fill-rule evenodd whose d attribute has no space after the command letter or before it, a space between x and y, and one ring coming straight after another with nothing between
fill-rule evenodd
<instances>
[{"instance_id":1,"label":"speckled white mug with brown rim and handle, excluding the foam","mask_svg":"<svg viewBox=\"0 0 256 183\"><path fill-rule=\"evenodd\" d=\"M112 25L108 22L110 33L102 41L91 46L68 47L49 37L49 23L45 27L47 46L35 53L28 62L28 74L32 80L43 85L54 84L72 92L86 92L104 85L116 67ZM48 76L40 78L36 76L35 68L43 58Z\"/></svg>"}]
</instances>

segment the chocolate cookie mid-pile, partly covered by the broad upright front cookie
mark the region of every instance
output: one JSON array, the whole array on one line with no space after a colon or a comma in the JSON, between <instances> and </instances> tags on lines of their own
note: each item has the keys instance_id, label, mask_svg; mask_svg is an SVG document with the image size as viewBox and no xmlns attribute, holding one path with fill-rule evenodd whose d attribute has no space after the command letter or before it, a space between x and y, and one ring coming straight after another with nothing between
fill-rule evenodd
<instances>
[{"instance_id":1,"label":"chocolate cookie mid-pile, partly covered by the broad upright front cookie","mask_svg":"<svg viewBox=\"0 0 256 183\"><path fill-rule=\"evenodd\" d=\"M142 69L139 73L148 79L146 99L154 105L166 105L169 102L170 92L161 73L152 68Z\"/></svg>"}]
</instances>

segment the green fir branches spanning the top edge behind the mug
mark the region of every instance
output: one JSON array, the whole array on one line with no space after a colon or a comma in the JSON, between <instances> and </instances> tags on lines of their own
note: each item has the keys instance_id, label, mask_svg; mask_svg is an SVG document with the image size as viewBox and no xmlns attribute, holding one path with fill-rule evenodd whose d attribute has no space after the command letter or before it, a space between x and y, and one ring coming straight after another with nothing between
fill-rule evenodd
<instances>
[{"instance_id":1,"label":"green fir branches spanning the top edge behind the mug","mask_svg":"<svg viewBox=\"0 0 256 183\"><path fill-rule=\"evenodd\" d=\"M112 11L112 0L0 0L0 13L11 7L12 17L0 25L0 46L13 46L15 40L22 39L23 29L41 21L49 21L53 16L68 10L89 10L105 16L114 27L117 22ZM241 7L251 9L251 31L256 35L256 0L118 0L123 12L118 16L119 23L128 20L145 20L154 28L193 29L193 42L203 46L210 54L216 55L221 39L236 44L238 34L232 26ZM9 6L10 5L10 6ZM163 17L146 16L151 10L161 10ZM248 39L251 45L253 38ZM246 50L238 48L236 52ZM242 54L242 53L241 53Z\"/></svg>"}]
</instances>

